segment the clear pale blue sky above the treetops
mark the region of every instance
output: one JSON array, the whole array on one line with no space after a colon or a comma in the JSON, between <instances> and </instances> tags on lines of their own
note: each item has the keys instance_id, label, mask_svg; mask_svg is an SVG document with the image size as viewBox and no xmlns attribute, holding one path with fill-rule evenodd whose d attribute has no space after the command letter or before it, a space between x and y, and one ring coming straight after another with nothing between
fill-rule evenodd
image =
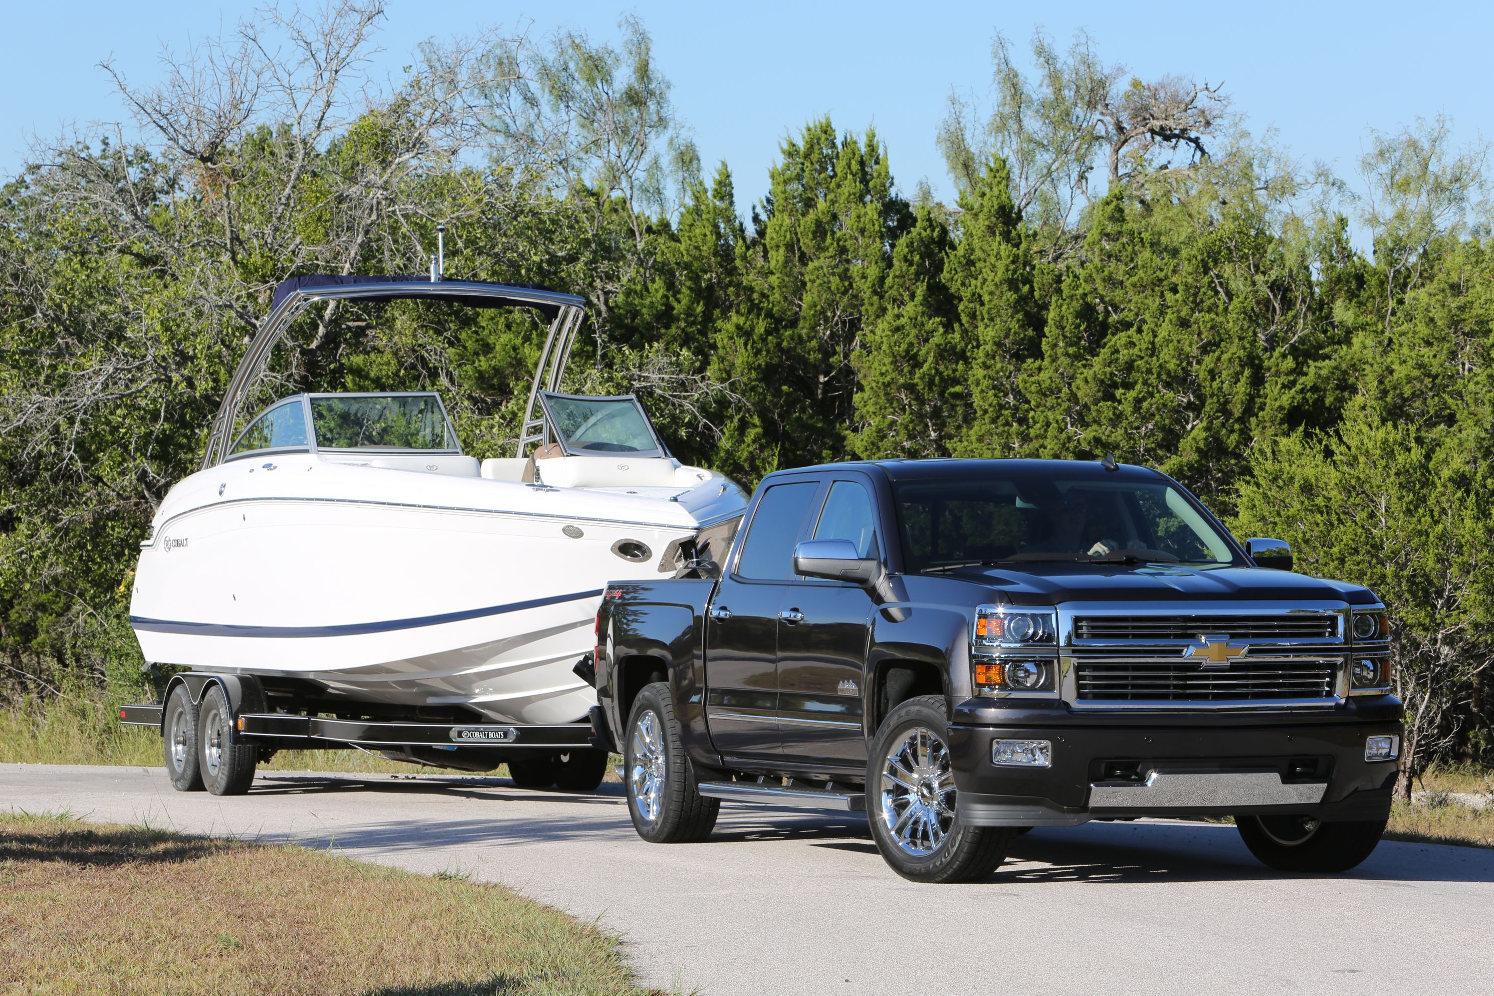
<instances>
[{"instance_id":1,"label":"clear pale blue sky above the treetops","mask_svg":"<svg viewBox=\"0 0 1494 996\"><path fill-rule=\"evenodd\" d=\"M66 122L124 116L96 64L112 55L136 82L157 72L161 45L232 27L252 3L21 4L7 15L0 58L0 172L25 160L27 136ZM1249 10L1246 13L1245 10ZM675 106L707 164L726 160L747 212L768 185L778 142L829 113L841 128L874 124L898 185L952 185L934 143L950 88L985 96L991 40L1023 46L1034 27L1061 42L1086 30L1106 61L1143 78L1182 73L1224 81L1247 127L1274 125L1303 160L1355 182L1371 127L1391 130L1445 112L1460 140L1494 139L1487 48L1494 6L1404 3L1116 4L1070 3L421 3L391 0L376 72L397 73L424 37L533 21L616 37L638 13Z\"/></svg>"}]
</instances>

